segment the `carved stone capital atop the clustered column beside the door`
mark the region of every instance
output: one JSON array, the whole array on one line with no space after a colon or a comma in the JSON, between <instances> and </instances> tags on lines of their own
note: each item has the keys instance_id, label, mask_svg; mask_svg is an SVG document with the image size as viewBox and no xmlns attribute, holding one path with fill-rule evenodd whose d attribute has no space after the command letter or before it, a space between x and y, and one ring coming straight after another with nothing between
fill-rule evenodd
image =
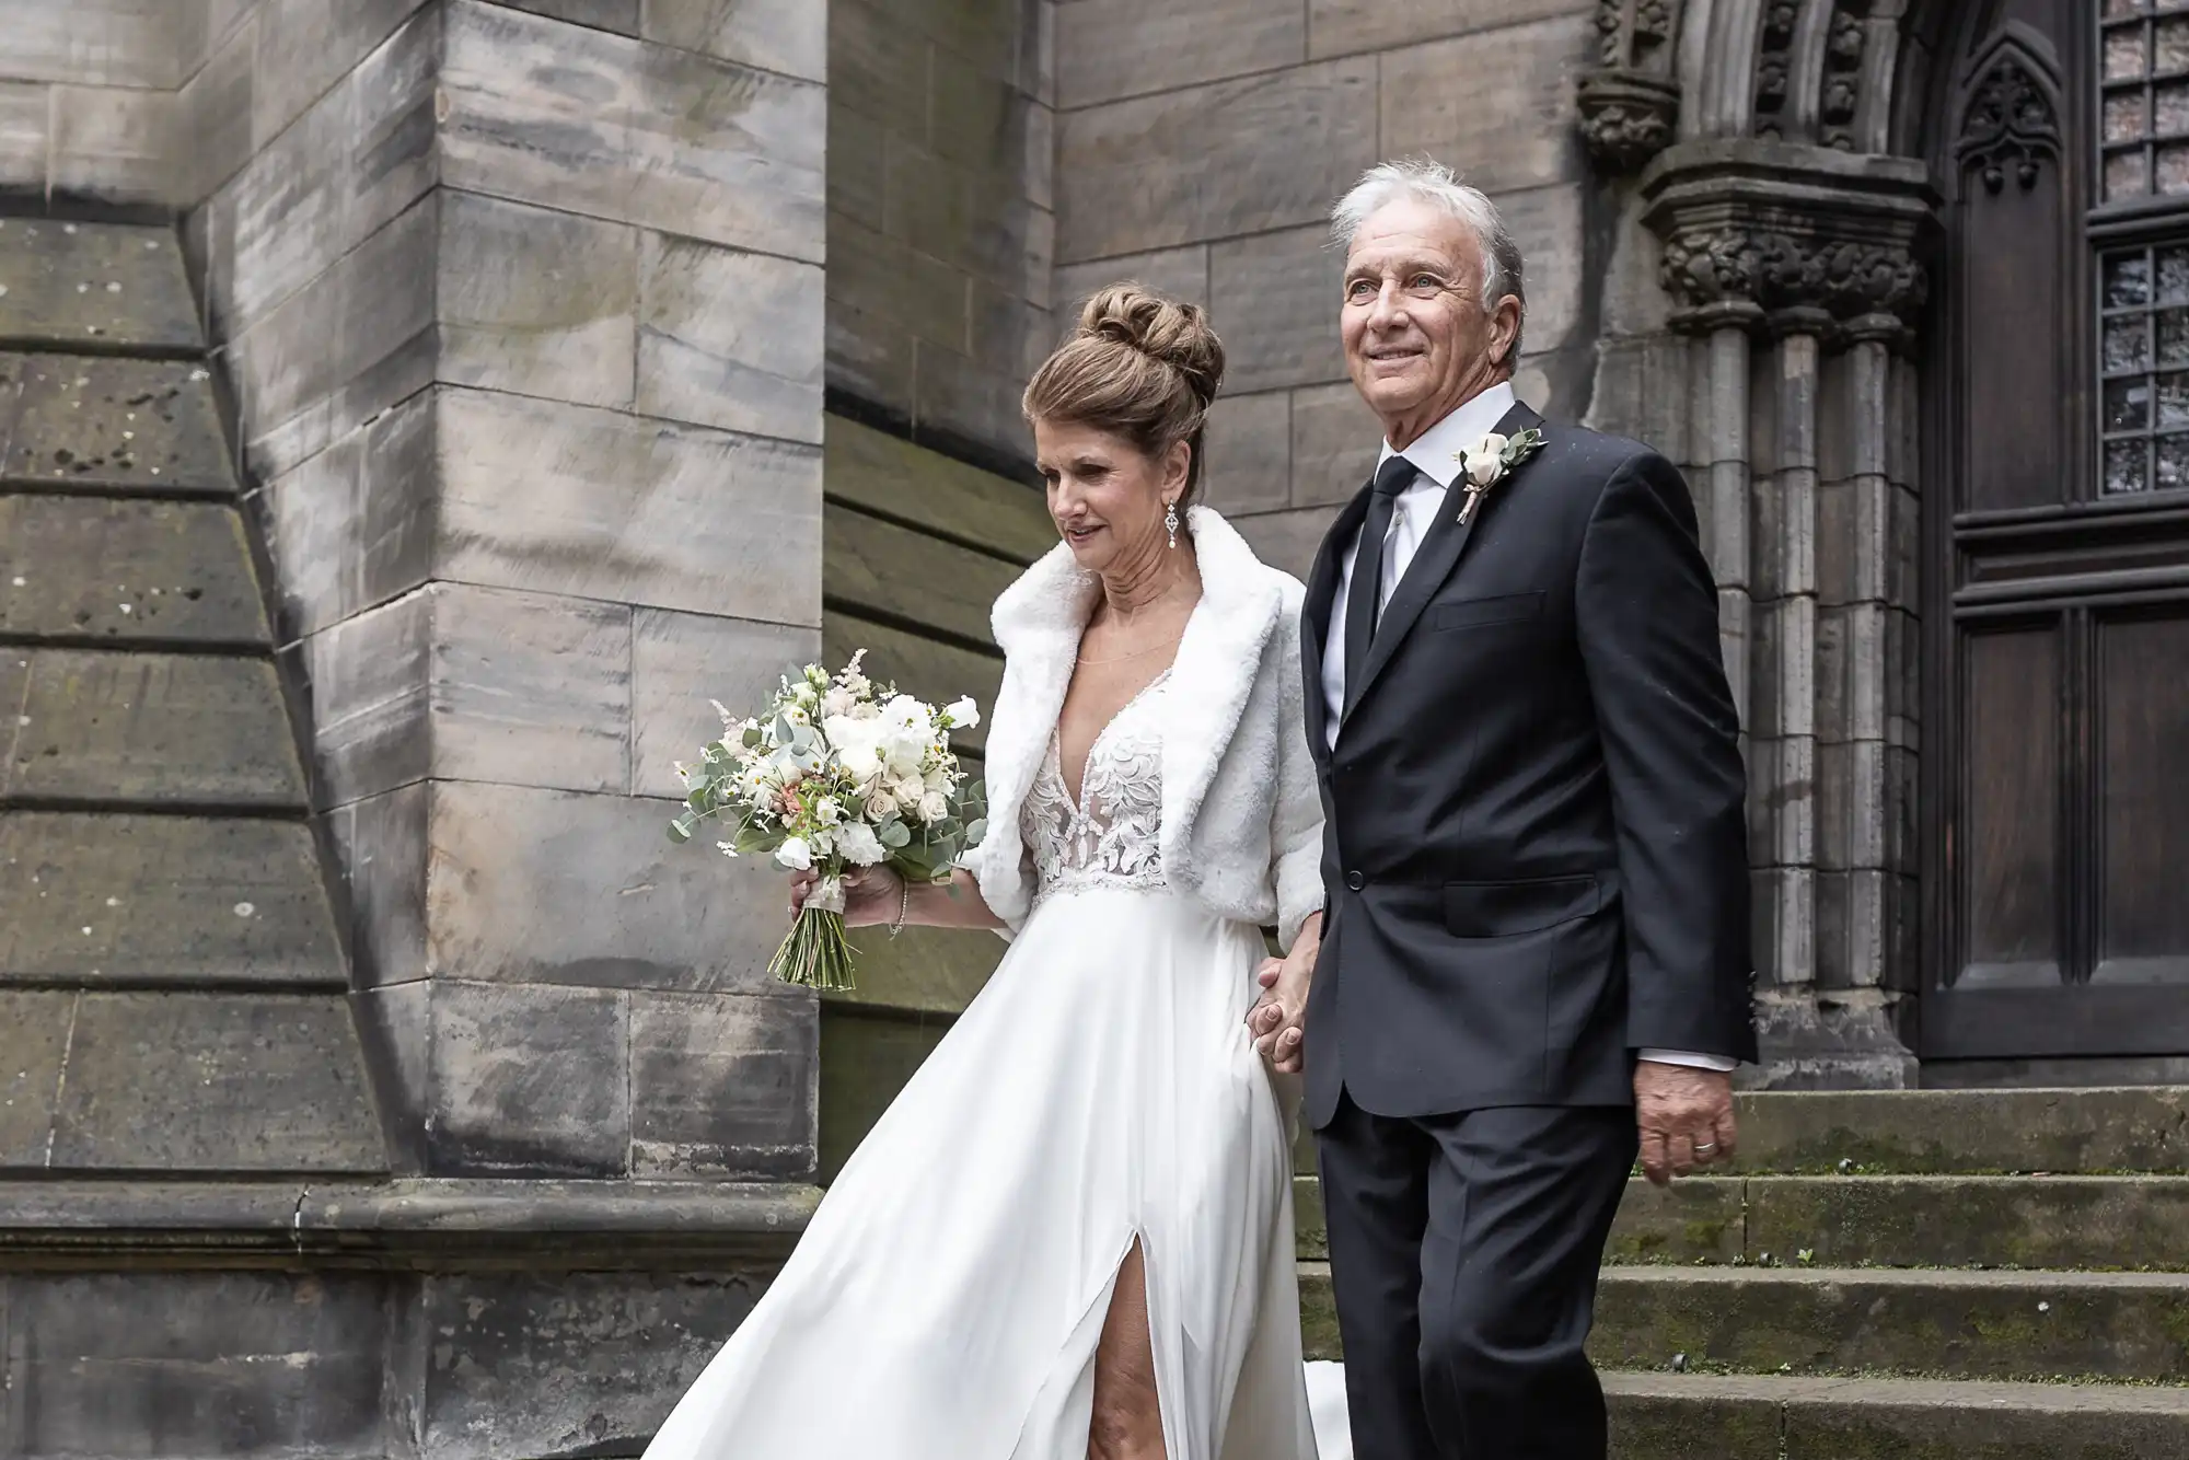
<instances>
[{"instance_id":1,"label":"carved stone capital atop the clustered column beside the door","mask_svg":"<svg viewBox=\"0 0 2189 1460\"><path fill-rule=\"evenodd\" d=\"M1924 304L1924 245L1937 199L1922 162L1769 140L1692 142L1642 179L1644 221L1664 239L1659 280L1681 328L1731 315L1802 328Z\"/></svg>"}]
</instances>

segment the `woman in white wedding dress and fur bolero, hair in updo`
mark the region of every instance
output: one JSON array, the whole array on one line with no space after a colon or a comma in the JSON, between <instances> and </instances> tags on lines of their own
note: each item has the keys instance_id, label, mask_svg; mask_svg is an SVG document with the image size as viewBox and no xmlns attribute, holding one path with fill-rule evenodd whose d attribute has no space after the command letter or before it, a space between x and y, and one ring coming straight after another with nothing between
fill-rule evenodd
<instances>
[{"instance_id":1,"label":"woman in white wedding dress and fur bolero, hair in updo","mask_svg":"<svg viewBox=\"0 0 2189 1460\"><path fill-rule=\"evenodd\" d=\"M648 1460L1316 1460L1298 1035L1248 1020L1305 1003L1322 812L1300 584L1191 506L1221 372L1116 285L1027 387L1064 541L996 600L987 841L847 913L1011 948Z\"/></svg>"}]
</instances>

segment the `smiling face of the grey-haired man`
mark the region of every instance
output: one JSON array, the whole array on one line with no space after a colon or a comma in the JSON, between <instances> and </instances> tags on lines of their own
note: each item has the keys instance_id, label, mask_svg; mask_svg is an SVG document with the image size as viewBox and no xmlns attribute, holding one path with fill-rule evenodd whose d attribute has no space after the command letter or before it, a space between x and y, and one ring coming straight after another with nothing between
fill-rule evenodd
<instances>
[{"instance_id":1,"label":"smiling face of the grey-haired man","mask_svg":"<svg viewBox=\"0 0 2189 1460\"><path fill-rule=\"evenodd\" d=\"M1519 302L1482 309L1482 263L1473 230L1416 199L1373 212L1346 252L1346 368L1394 444L1508 374Z\"/></svg>"}]
</instances>

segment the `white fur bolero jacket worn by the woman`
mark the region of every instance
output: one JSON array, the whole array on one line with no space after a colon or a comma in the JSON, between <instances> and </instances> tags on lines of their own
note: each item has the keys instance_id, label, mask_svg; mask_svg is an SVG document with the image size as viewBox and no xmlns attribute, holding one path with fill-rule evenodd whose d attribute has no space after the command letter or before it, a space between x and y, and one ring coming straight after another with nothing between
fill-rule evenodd
<instances>
[{"instance_id":1,"label":"white fur bolero jacket worn by the woman","mask_svg":"<svg viewBox=\"0 0 2189 1460\"><path fill-rule=\"evenodd\" d=\"M1165 696L1162 867L1219 917L1276 924L1292 946L1322 908L1322 799L1307 755L1300 600L1208 508L1186 517L1202 602L1186 622ZM1033 906L1018 814L1064 709L1099 584L1066 545L996 600L1003 692L987 733L987 838L965 865L1011 930Z\"/></svg>"}]
</instances>

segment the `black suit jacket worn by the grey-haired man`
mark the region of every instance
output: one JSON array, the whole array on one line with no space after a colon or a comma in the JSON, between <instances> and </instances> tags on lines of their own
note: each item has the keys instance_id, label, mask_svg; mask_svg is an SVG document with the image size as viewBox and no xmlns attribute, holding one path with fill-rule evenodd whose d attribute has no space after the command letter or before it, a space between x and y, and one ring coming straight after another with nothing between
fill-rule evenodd
<instances>
[{"instance_id":1,"label":"black suit jacket worn by the grey-haired man","mask_svg":"<svg viewBox=\"0 0 2189 1460\"><path fill-rule=\"evenodd\" d=\"M1346 665L1322 648L1340 554L1307 584L1307 735L1329 926L1307 1116L1624 1105L1633 1051L1756 1057L1738 716L1694 503L1661 455L1515 407L1543 449L1469 528L1453 486Z\"/></svg>"}]
</instances>

